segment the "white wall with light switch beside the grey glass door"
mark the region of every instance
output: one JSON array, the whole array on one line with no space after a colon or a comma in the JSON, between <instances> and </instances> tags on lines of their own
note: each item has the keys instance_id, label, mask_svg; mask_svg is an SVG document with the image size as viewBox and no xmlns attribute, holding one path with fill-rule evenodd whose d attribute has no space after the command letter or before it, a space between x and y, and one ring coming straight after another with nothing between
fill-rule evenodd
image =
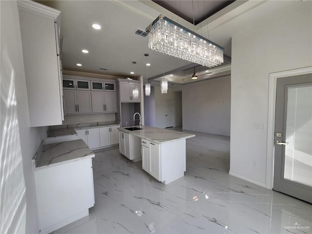
<instances>
[{"instance_id":1,"label":"white wall with light switch beside the grey glass door","mask_svg":"<svg viewBox=\"0 0 312 234\"><path fill-rule=\"evenodd\" d=\"M232 37L231 75L230 174L262 186L266 186L269 74L312 64L312 2L265 4L287 4L292 11ZM261 9L248 14L256 10ZM254 130L255 123L264 124L265 130Z\"/></svg>"}]
</instances>

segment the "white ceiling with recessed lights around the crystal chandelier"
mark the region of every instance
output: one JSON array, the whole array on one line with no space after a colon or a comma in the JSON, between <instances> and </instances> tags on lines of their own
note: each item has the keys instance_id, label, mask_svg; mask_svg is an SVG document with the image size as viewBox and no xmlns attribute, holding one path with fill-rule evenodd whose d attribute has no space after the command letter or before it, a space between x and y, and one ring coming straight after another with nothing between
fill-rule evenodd
<instances>
[{"instance_id":1,"label":"white ceiling with recessed lights around the crystal chandelier","mask_svg":"<svg viewBox=\"0 0 312 234\"><path fill-rule=\"evenodd\" d=\"M172 12L159 6L151 0L58 0L39 1L61 11L61 35L63 36L62 63L63 69L81 71L117 77L130 77L130 71L135 70L136 76L142 75L156 79L163 72L165 75L176 74L169 77L174 83L184 84L196 80L181 76L181 71L193 74L192 64L188 61L171 56L162 55L148 48L148 37L144 38L134 34L139 28L145 28L160 14L178 20L178 23L193 29L194 25L186 20L177 18ZM288 3L287 3L288 2ZM221 11L195 26L195 32L225 48L225 55L231 57L231 38L244 30L251 30L262 25L278 14L285 14L285 10L292 10L293 1L243 1L237 0ZM92 23L101 25L100 30L94 30ZM208 23L208 26L207 26ZM89 51L83 54L82 49ZM145 53L149 56L146 58ZM146 67L146 59L151 66ZM132 61L137 61L136 66ZM81 63L78 67L76 64ZM164 63L164 67L163 67ZM227 67L226 67L227 66ZM100 67L109 70L100 70ZM210 70L205 67L196 67L200 70ZM229 62L225 68L214 68L212 77L230 73ZM214 71L213 69L211 69ZM183 72L184 74L188 74ZM180 76L178 76L180 74Z\"/></svg>"}]
</instances>

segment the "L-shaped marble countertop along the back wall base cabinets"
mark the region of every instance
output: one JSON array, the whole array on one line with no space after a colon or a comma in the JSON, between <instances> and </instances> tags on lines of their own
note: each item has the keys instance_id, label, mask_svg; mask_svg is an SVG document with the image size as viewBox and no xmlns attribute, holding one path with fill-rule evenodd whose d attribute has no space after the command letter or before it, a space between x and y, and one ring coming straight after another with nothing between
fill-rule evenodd
<instances>
[{"instance_id":1,"label":"L-shaped marble countertop along the back wall base cabinets","mask_svg":"<svg viewBox=\"0 0 312 234\"><path fill-rule=\"evenodd\" d=\"M88 128L111 127L111 126L118 126L118 125L120 124L116 124L114 122L62 125L63 127L50 128L47 132L47 136L48 137L61 137L61 136L68 136L68 135L77 135L77 132L75 131L75 129L80 130L80 129L88 129Z\"/></svg>"}]
</instances>

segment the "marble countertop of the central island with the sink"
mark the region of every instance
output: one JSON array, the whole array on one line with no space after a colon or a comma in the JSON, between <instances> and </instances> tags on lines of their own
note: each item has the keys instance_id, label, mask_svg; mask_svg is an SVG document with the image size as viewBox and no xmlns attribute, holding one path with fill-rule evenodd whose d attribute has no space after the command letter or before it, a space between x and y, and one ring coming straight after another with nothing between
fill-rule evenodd
<instances>
[{"instance_id":1,"label":"marble countertop of the central island with the sink","mask_svg":"<svg viewBox=\"0 0 312 234\"><path fill-rule=\"evenodd\" d=\"M125 133L133 134L134 136L141 137L146 140L154 141L155 143L158 143L158 144L161 144L163 142L168 142L168 141L175 141L177 139L182 139L182 138L187 139L187 138L195 137L194 134L177 132L177 131L168 130L165 128L155 128L155 127L151 127L147 125L132 126L132 127L140 127L142 129L129 131L129 130L126 130L125 128L118 128L118 130L125 132Z\"/></svg>"}]
</instances>

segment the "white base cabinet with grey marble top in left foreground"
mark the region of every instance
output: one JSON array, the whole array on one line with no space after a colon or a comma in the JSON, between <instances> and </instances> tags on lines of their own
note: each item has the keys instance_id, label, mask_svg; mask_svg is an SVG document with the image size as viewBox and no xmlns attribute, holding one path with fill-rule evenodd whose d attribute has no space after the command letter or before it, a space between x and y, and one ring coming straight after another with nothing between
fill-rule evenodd
<instances>
[{"instance_id":1,"label":"white base cabinet with grey marble top in left foreground","mask_svg":"<svg viewBox=\"0 0 312 234\"><path fill-rule=\"evenodd\" d=\"M89 215L94 206L94 156L81 139L40 145L33 170L41 234Z\"/></svg>"}]
</instances>

